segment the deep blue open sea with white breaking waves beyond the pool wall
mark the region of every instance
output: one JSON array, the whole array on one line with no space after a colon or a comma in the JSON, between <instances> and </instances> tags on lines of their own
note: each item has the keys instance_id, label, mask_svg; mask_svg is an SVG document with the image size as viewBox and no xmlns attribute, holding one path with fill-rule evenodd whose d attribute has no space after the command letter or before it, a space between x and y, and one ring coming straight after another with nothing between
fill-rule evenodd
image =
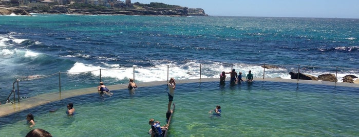
<instances>
[{"instance_id":1,"label":"deep blue open sea with white breaking waves beyond the pool wall","mask_svg":"<svg viewBox=\"0 0 359 137\"><path fill-rule=\"evenodd\" d=\"M167 69L175 79L232 68L261 78L264 63L279 66L268 78L359 76L359 19L34 14L0 16L0 28L1 103L16 79L28 98L59 92L59 77L61 90L96 88L100 75L106 85L141 83L167 80Z\"/></svg>"}]
</instances>

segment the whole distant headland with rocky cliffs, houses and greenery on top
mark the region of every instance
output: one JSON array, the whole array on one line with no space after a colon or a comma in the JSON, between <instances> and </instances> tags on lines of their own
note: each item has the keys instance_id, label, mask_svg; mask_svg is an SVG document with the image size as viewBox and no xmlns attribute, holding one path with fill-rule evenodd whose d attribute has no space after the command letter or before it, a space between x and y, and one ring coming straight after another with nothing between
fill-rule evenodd
<instances>
[{"instance_id":1,"label":"whole distant headland with rocky cliffs, houses and greenery on top","mask_svg":"<svg viewBox=\"0 0 359 137\"><path fill-rule=\"evenodd\" d=\"M46 0L45 0L46 1ZM39 14L82 14L82 15L148 15L148 16L208 16L201 8L187 8L163 3L140 3L122 5L117 8L93 6L90 4L59 5L52 3L27 4L10 6L0 5L0 15L29 15Z\"/></svg>"}]
</instances>

